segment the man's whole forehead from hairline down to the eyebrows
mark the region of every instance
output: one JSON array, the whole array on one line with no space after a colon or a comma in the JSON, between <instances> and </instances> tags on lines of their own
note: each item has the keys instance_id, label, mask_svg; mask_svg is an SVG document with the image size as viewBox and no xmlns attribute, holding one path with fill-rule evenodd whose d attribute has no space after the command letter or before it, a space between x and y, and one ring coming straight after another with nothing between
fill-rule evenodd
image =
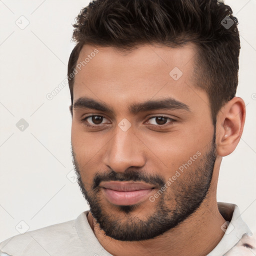
<instances>
[{"instance_id":1,"label":"man's whole forehead from hairline down to the eyebrows","mask_svg":"<svg viewBox=\"0 0 256 256\"><path fill-rule=\"evenodd\" d=\"M84 45L77 60L73 101L86 96L121 108L169 96L189 105L199 90L193 86L195 55L192 43L175 48L144 44L129 52Z\"/></svg>"}]
</instances>

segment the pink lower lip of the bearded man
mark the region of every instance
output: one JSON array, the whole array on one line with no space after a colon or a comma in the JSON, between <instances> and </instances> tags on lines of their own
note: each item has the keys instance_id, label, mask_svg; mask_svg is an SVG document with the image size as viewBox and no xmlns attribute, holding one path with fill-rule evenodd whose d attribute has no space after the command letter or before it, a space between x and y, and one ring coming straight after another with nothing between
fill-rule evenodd
<instances>
[{"instance_id":1,"label":"pink lower lip of the bearded man","mask_svg":"<svg viewBox=\"0 0 256 256\"><path fill-rule=\"evenodd\" d=\"M103 187L104 194L107 200L116 205L131 205L141 202L148 194L152 192L150 189L141 189L134 191L117 191Z\"/></svg>"}]
</instances>

